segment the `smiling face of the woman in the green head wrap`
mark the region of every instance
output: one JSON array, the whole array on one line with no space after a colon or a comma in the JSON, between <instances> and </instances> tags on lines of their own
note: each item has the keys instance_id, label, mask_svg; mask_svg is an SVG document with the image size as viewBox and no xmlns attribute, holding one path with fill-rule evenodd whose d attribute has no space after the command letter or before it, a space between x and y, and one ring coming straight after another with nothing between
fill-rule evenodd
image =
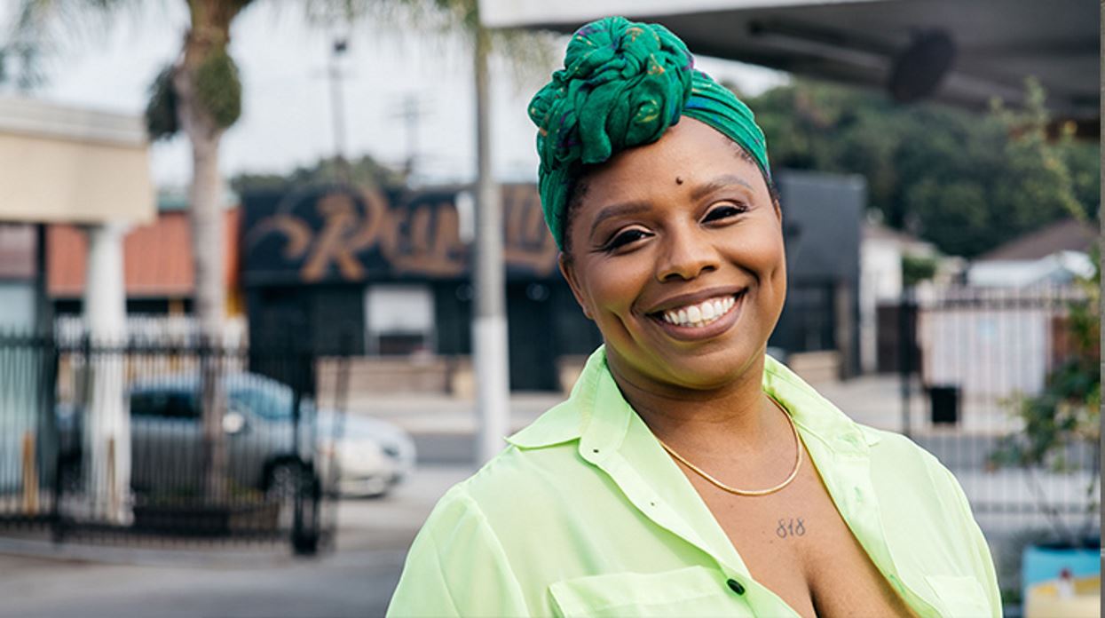
<instances>
[{"instance_id":1,"label":"smiling face of the woman in the green head wrap","mask_svg":"<svg viewBox=\"0 0 1105 618\"><path fill-rule=\"evenodd\" d=\"M561 271L621 377L716 389L762 358L787 290L781 218L722 134L684 117L613 157L565 233Z\"/></svg>"}]
</instances>

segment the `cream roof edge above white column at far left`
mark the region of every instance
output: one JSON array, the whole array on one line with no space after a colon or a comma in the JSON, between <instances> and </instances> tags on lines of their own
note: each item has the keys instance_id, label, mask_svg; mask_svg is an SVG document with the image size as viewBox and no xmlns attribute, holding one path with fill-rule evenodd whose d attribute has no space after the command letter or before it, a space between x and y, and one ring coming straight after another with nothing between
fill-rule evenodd
<instances>
[{"instance_id":1,"label":"cream roof edge above white column at far left","mask_svg":"<svg viewBox=\"0 0 1105 618\"><path fill-rule=\"evenodd\" d=\"M0 221L152 221L140 116L0 98Z\"/></svg>"}]
</instances>

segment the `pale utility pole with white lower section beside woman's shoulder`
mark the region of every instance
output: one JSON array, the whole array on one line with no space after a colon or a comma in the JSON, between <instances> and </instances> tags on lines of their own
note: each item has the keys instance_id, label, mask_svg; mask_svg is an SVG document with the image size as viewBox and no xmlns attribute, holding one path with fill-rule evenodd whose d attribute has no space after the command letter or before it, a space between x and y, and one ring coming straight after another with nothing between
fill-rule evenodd
<instances>
[{"instance_id":1,"label":"pale utility pole with white lower section beside woman's shoulder","mask_svg":"<svg viewBox=\"0 0 1105 618\"><path fill-rule=\"evenodd\" d=\"M476 464L503 449L509 432L509 364L506 346L506 294L503 264L503 213L492 170L491 36L477 25L475 36L476 94L476 239L475 316L472 353L476 378L480 433Z\"/></svg>"}]
</instances>

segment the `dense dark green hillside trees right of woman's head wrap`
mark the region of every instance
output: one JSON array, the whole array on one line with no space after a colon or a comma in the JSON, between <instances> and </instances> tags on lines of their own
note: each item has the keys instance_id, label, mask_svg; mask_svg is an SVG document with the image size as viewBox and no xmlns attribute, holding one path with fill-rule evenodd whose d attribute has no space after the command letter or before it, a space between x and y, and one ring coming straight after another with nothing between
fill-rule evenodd
<instances>
[{"instance_id":1,"label":"dense dark green hillside trees right of woman's head wrap","mask_svg":"<svg viewBox=\"0 0 1105 618\"><path fill-rule=\"evenodd\" d=\"M971 258L1098 210L1097 143L1055 135L1032 80L1023 109L896 105L877 92L797 80L749 99L776 168L860 174L892 227ZM1048 130L1051 128L1051 134Z\"/></svg>"}]
</instances>

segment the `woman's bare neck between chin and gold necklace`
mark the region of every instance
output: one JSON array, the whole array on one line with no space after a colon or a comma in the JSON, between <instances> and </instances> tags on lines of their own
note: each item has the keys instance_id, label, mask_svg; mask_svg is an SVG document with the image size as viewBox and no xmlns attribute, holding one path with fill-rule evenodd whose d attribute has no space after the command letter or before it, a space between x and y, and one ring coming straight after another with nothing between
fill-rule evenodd
<instances>
[{"instance_id":1,"label":"woman's bare neck between chin and gold necklace","mask_svg":"<svg viewBox=\"0 0 1105 618\"><path fill-rule=\"evenodd\" d=\"M777 438L789 438L789 426L764 394L764 356L754 359L726 385L711 390L656 385L622 370L609 359L611 374L625 400L652 432L673 449L703 455L756 452ZM781 431L780 431L781 430Z\"/></svg>"}]
</instances>

